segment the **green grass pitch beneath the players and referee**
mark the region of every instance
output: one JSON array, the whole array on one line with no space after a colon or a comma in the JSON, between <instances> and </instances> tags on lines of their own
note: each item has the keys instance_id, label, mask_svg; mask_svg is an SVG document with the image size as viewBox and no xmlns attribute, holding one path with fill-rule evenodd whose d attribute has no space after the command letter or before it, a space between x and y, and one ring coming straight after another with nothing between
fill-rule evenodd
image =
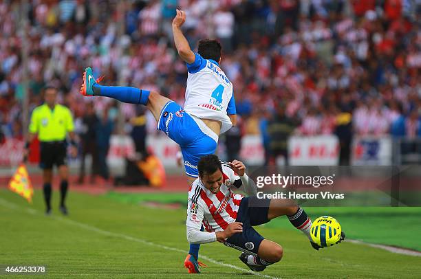
<instances>
[{"instance_id":1,"label":"green grass pitch beneath the players and referee","mask_svg":"<svg viewBox=\"0 0 421 279\"><path fill-rule=\"evenodd\" d=\"M0 189L0 265L46 265L48 278L421 278L421 257L346 241L317 252L285 220L257 227L284 248L281 262L259 275L251 274L238 260L237 250L221 243L202 245L201 260L208 268L199 275L187 274L183 267L188 249L185 209L149 208L139 205L137 199L111 196L70 192L70 215L61 216L58 192L54 192L53 214L45 216L40 191L30 205L17 194ZM167 201L176 196L162 194ZM313 218L330 214L321 208L306 210ZM382 238L399 241L402 236L410 239L395 245L421 247L417 239L420 208L410 209L410 216L400 214L408 216L403 224L418 220L413 227L381 225L388 221L386 216L395 220L393 214L398 209L393 208L327 210L336 210L332 215L351 238L382 243ZM365 214L367 211L371 213ZM370 223L371 229L363 232ZM372 229L377 226L377 231Z\"/></svg>"}]
</instances>

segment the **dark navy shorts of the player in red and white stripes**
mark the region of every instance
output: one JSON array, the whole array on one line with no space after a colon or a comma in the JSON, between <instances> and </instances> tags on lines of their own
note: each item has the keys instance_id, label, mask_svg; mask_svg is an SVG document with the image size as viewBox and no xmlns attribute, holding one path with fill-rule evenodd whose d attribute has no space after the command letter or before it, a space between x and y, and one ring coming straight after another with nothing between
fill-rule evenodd
<instances>
[{"instance_id":1,"label":"dark navy shorts of the player in red and white stripes","mask_svg":"<svg viewBox=\"0 0 421 279\"><path fill-rule=\"evenodd\" d=\"M224 243L241 252L257 255L263 236L252 227L268 223L270 199L257 199L257 197L244 197L239 205L237 219L243 223L243 232L230 236Z\"/></svg>"}]
</instances>

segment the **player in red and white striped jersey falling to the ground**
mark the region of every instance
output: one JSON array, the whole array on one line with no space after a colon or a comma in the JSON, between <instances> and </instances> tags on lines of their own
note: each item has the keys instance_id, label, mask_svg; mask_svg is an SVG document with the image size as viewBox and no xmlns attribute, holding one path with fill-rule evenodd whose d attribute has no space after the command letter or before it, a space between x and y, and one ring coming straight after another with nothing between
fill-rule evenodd
<instances>
[{"instance_id":1,"label":"player in red and white striped jersey falling to the ground","mask_svg":"<svg viewBox=\"0 0 421 279\"><path fill-rule=\"evenodd\" d=\"M258 199L255 183L246 175L241 161L228 164L219 161L216 155L206 155L197 166L197 178L188 192L187 240L189 243L219 241L243 252L239 259L252 271L262 271L268 265L279 262L283 255L281 245L263 238L252 227L268 223L286 215L301 230L314 249L321 246L312 242L312 221L305 211L291 200ZM234 194L239 188L250 195ZM204 225L206 232L200 227ZM345 238L341 234L338 243Z\"/></svg>"}]
</instances>

